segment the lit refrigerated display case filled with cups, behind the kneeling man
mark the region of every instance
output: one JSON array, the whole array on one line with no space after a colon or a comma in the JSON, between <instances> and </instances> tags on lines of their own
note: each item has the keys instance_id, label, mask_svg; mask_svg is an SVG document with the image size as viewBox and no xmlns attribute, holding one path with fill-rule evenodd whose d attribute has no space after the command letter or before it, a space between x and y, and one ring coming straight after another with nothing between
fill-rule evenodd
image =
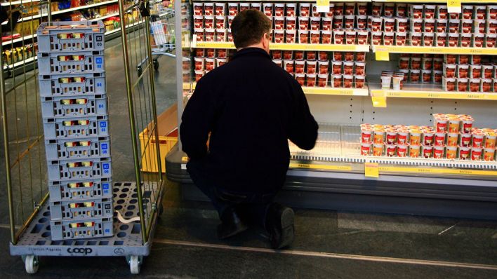
<instances>
[{"instance_id":1,"label":"lit refrigerated display case filled with cups, behind the kneeling man","mask_svg":"<svg viewBox=\"0 0 497 279\"><path fill-rule=\"evenodd\" d=\"M314 149L289 143L279 199L497 219L497 1L461 2L178 1L178 123L196 81L234 53L234 14L258 8L273 21L274 62L301 83L319 122ZM179 141L168 179L204 199L186 163Z\"/></svg>"}]
</instances>

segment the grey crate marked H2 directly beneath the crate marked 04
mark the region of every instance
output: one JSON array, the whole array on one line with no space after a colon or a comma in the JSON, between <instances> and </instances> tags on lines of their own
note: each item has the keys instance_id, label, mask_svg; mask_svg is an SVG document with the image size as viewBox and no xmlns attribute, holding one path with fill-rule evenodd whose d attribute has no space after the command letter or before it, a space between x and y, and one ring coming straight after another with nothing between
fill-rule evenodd
<instances>
[{"instance_id":1,"label":"grey crate marked H2 directly beneath the crate marked 04","mask_svg":"<svg viewBox=\"0 0 497 279\"><path fill-rule=\"evenodd\" d=\"M109 135L109 118L107 116L45 118L44 132L46 140L107 137Z\"/></svg>"}]
</instances>

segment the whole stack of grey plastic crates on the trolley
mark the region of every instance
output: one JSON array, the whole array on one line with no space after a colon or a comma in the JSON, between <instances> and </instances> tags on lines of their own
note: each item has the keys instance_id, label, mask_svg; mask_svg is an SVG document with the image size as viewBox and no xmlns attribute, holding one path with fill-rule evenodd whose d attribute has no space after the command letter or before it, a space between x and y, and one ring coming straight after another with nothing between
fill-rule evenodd
<instances>
[{"instance_id":1,"label":"whole stack of grey plastic crates on the trolley","mask_svg":"<svg viewBox=\"0 0 497 279\"><path fill-rule=\"evenodd\" d=\"M112 164L101 21L37 30L52 240L112 236Z\"/></svg>"}]
</instances>

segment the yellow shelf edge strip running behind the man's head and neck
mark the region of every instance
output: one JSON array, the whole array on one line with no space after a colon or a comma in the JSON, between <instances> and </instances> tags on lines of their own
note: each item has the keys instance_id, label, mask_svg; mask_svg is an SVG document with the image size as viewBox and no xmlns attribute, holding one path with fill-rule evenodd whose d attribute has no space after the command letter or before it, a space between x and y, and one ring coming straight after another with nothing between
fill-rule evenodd
<instances>
[{"instance_id":1,"label":"yellow shelf edge strip running behind the man's head and neck","mask_svg":"<svg viewBox=\"0 0 497 279\"><path fill-rule=\"evenodd\" d=\"M229 48L234 49L230 42L197 41L190 44L191 48ZM272 50L322 50L322 51L364 51L369 52L369 45L324 45L314 43L270 43Z\"/></svg>"}]
</instances>

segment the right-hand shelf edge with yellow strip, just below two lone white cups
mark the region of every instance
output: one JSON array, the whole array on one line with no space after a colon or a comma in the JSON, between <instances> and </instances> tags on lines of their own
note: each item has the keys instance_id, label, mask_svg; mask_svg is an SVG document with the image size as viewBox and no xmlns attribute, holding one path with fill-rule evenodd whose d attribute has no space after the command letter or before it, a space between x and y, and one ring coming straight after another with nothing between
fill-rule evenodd
<instances>
[{"instance_id":1,"label":"right-hand shelf edge with yellow strip, just below two lone white cups","mask_svg":"<svg viewBox=\"0 0 497 279\"><path fill-rule=\"evenodd\" d=\"M406 83L402 90L381 89L378 76L368 78L371 96L420 99L457 99L457 100L495 100L497 93L483 92L448 92L439 84ZM371 82L374 81L374 82Z\"/></svg>"}]
</instances>

